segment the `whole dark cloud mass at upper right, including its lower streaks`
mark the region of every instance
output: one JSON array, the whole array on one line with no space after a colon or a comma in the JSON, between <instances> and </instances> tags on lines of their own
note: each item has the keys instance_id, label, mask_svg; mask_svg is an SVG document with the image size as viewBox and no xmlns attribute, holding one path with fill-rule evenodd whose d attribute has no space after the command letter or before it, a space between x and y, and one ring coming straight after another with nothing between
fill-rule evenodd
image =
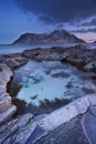
<instances>
[{"instance_id":1,"label":"whole dark cloud mass at upper right, including its lower streaks","mask_svg":"<svg viewBox=\"0 0 96 144\"><path fill-rule=\"evenodd\" d=\"M74 33L96 32L96 0L14 0L25 13Z\"/></svg>"}]
</instances>

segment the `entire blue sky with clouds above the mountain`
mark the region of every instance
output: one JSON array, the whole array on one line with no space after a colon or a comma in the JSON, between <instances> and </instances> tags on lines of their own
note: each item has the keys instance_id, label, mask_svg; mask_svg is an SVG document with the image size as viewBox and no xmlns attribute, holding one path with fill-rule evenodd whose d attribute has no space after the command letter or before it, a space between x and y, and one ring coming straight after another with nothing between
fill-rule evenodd
<instances>
[{"instance_id":1,"label":"entire blue sky with clouds above the mountain","mask_svg":"<svg viewBox=\"0 0 96 144\"><path fill-rule=\"evenodd\" d=\"M96 40L96 0L0 0L0 44L56 28Z\"/></svg>"}]
</instances>

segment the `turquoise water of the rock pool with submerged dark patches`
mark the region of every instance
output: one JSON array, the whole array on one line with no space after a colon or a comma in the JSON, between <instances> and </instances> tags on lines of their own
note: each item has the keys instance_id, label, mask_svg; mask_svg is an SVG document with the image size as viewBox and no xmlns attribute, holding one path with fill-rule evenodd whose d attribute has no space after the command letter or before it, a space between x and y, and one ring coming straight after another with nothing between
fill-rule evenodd
<instances>
[{"instance_id":1,"label":"turquoise water of the rock pool with submerged dark patches","mask_svg":"<svg viewBox=\"0 0 96 144\"><path fill-rule=\"evenodd\" d=\"M96 91L86 73L58 61L30 61L14 71L12 84L21 85L18 99L36 106L45 99L74 100Z\"/></svg>"}]
</instances>

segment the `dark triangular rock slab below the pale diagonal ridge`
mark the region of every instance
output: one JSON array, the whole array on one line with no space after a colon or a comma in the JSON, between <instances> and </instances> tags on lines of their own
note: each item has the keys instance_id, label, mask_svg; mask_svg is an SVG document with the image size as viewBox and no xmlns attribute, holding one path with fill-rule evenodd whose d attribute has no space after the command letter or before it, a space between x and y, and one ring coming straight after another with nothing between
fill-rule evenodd
<instances>
[{"instance_id":1,"label":"dark triangular rock slab below the pale diagonal ridge","mask_svg":"<svg viewBox=\"0 0 96 144\"><path fill-rule=\"evenodd\" d=\"M32 144L29 141L28 144ZM76 116L49 133L35 144L89 144L81 124L81 116Z\"/></svg>"}]
</instances>

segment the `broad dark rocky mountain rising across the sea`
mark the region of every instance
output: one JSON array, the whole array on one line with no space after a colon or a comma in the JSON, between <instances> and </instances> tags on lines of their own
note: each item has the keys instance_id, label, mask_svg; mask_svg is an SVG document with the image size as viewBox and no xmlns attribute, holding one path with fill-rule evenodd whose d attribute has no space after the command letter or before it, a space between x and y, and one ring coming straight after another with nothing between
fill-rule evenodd
<instances>
[{"instance_id":1,"label":"broad dark rocky mountain rising across the sea","mask_svg":"<svg viewBox=\"0 0 96 144\"><path fill-rule=\"evenodd\" d=\"M25 33L22 34L13 44L28 43L28 44L66 44L66 43L85 43L84 40L78 39L74 34L68 33L64 29L54 30L50 33Z\"/></svg>"}]
</instances>

